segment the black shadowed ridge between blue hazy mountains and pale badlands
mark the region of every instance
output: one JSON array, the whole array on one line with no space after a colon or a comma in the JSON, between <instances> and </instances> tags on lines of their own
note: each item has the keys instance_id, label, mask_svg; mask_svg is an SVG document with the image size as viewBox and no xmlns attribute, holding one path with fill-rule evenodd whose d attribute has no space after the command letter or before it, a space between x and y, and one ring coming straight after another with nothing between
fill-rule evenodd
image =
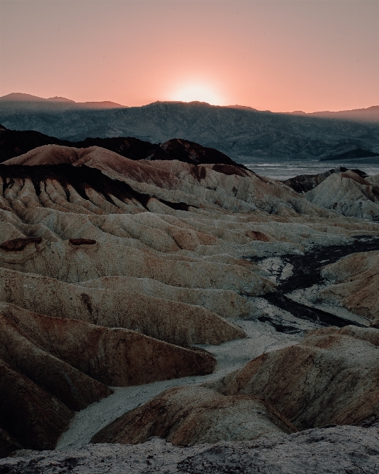
<instances>
[{"instance_id":1,"label":"black shadowed ridge between blue hazy mountains and pale badlands","mask_svg":"<svg viewBox=\"0 0 379 474\"><path fill-rule=\"evenodd\" d=\"M7 130L0 125L0 162L10 160L16 156L43 145L63 145L75 148L101 146L114 151L130 160L180 160L195 165L217 163L244 168L214 148L201 146L194 142L181 139L171 139L164 144L151 144L134 137L115 138L86 138L81 142L70 142L49 137L33 130Z\"/></svg>"}]
</instances>

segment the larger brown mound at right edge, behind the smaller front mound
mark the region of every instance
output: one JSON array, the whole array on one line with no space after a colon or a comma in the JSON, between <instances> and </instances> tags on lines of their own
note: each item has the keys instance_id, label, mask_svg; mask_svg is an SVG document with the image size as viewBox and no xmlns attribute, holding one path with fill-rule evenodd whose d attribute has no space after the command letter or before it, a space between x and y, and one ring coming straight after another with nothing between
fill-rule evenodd
<instances>
[{"instance_id":1,"label":"larger brown mound at right edge, behind the smaller front mound","mask_svg":"<svg viewBox=\"0 0 379 474\"><path fill-rule=\"evenodd\" d=\"M378 345L373 328L313 330L300 344L265 353L207 386L263 397L297 429L357 425L379 415Z\"/></svg>"}]
</instances>

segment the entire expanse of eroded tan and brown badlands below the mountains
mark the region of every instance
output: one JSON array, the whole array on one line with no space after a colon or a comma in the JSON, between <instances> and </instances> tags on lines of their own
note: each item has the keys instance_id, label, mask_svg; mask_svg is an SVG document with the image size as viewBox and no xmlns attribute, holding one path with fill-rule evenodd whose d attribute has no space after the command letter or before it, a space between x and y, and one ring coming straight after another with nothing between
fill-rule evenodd
<instances>
[{"instance_id":1,"label":"entire expanse of eroded tan and brown badlands below the mountains","mask_svg":"<svg viewBox=\"0 0 379 474\"><path fill-rule=\"evenodd\" d=\"M0 164L0 473L376 472L379 177L139 142Z\"/></svg>"}]
</instances>

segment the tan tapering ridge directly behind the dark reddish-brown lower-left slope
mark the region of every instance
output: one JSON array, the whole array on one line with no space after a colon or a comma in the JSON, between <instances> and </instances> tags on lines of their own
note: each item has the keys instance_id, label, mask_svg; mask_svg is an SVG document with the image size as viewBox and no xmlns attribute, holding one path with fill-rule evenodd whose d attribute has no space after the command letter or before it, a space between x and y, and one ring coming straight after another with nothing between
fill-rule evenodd
<instances>
[{"instance_id":1,"label":"tan tapering ridge directly behind the dark reddish-brown lower-left slope","mask_svg":"<svg viewBox=\"0 0 379 474\"><path fill-rule=\"evenodd\" d=\"M40 314L142 332L173 344L220 344L245 337L230 321L200 306L134 293L92 289L0 268L0 300Z\"/></svg>"}]
</instances>

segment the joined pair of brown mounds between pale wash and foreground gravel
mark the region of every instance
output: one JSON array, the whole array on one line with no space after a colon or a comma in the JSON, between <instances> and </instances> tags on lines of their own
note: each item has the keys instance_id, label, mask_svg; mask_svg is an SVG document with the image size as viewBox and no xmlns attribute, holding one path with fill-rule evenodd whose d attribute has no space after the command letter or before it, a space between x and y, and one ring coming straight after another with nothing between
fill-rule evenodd
<instances>
[{"instance_id":1,"label":"joined pair of brown mounds between pale wash and foreground gravel","mask_svg":"<svg viewBox=\"0 0 379 474\"><path fill-rule=\"evenodd\" d=\"M150 436L176 445L245 441L377 419L378 344L375 328L309 331L297 344L263 353L221 379L162 392L91 442L135 444Z\"/></svg>"}]
</instances>

